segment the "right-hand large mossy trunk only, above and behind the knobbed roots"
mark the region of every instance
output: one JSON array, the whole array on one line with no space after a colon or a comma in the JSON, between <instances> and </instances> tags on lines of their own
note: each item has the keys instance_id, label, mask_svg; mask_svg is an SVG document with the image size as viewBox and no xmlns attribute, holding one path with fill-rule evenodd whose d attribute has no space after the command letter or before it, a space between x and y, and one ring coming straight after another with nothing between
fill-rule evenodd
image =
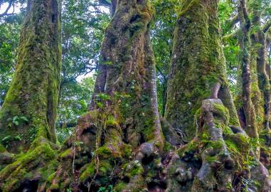
<instances>
[{"instance_id":1,"label":"right-hand large mossy trunk only, above and behind the knobbed roots","mask_svg":"<svg viewBox=\"0 0 271 192\"><path fill-rule=\"evenodd\" d=\"M211 97L218 83L230 124L239 124L225 75L217 6L217 1L183 1L174 33L165 117L188 139L195 136L194 115L201 101Z\"/></svg>"}]
</instances>

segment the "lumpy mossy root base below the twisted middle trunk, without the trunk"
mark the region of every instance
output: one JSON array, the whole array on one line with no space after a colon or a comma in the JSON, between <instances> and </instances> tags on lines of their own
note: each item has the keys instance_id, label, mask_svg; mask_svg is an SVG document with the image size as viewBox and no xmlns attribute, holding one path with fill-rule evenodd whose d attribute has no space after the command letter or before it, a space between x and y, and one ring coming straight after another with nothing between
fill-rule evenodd
<instances>
[{"instance_id":1,"label":"lumpy mossy root base below the twisted middle trunk, without the trunk","mask_svg":"<svg viewBox=\"0 0 271 192\"><path fill-rule=\"evenodd\" d=\"M97 110L79 119L76 135L59 152L49 191L97 191L108 185L116 191L166 188L160 182L163 167L157 142L150 140L132 148L118 121L108 122L104 117L105 112ZM100 125L95 122L107 122L100 135Z\"/></svg>"}]
</instances>

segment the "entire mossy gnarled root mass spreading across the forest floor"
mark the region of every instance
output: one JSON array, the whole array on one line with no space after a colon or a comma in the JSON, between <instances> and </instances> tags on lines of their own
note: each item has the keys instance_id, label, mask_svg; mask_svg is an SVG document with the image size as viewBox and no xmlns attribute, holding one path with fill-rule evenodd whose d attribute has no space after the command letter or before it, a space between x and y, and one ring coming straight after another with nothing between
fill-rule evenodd
<instances>
[{"instance_id":1,"label":"entire mossy gnarled root mass spreading across the forest floor","mask_svg":"<svg viewBox=\"0 0 271 192\"><path fill-rule=\"evenodd\" d=\"M102 110L88 112L58 155L44 142L6 166L2 191L270 191L267 169L243 129L228 127L219 99L203 100L197 136L188 144L164 122L164 134L176 140L162 151L143 139L132 147L123 124L110 118Z\"/></svg>"}]
</instances>

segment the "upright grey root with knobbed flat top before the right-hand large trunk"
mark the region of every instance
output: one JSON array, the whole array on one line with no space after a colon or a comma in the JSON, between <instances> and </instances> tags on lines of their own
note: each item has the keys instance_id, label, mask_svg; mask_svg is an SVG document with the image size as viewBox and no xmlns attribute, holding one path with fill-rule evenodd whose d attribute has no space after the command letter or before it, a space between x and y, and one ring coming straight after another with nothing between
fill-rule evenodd
<instances>
[{"instance_id":1,"label":"upright grey root with knobbed flat top before the right-hand large trunk","mask_svg":"<svg viewBox=\"0 0 271 192\"><path fill-rule=\"evenodd\" d=\"M210 144L201 152L203 164L196 175L192 191L217 190L226 191L227 184L233 179L233 167L235 162L230 157L223 139L223 126L228 124L228 119L219 114L218 106L223 109L223 103L218 99L203 100L203 123L199 132L207 131L210 136ZM223 110L226 111L224 108ZM215 119L215 115L218 116ZM217 171L219 170L219 171Z\"/></svg>"}]
</instances>

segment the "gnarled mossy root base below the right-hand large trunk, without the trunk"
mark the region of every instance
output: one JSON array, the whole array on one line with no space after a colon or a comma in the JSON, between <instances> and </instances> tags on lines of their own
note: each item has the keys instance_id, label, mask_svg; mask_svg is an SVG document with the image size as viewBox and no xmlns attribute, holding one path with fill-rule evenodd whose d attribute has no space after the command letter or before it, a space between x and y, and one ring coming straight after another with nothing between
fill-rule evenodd
<instances>
[{"instance_id":1,"label":"gnarled mossy root base below the right-hand large trunk, without the trunk","mask_svg":"<svg viewBox=\"0 0 271 192\"><path fill-rule=\"evenodd\" d=\"M243 129L228 127L228 110L219 99L203 100L196 118L197 137L177 149L167 167L169 191L270 191L267 169ZM252 169L245 164L251 158ZM242 180L252 182L245 186ZM259 181L262 185L255 185Z\"/></svg>"}]
</instances>

